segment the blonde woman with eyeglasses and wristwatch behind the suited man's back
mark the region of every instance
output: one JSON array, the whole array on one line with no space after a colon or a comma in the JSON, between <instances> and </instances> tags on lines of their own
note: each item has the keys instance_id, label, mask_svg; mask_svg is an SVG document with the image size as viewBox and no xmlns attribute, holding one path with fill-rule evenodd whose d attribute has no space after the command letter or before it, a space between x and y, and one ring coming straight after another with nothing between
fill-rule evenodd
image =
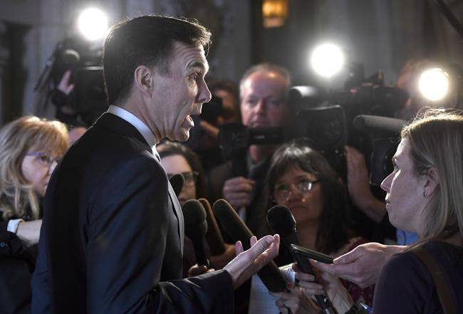
<instances>
[{"instance_id":1,"label":"blonde woman with eyeglasses and wristwatch behind the suited man's back","mask_svg":"<svg viewBox=\"0 0 463 314\"><path fill-rule=\"evenodd\" d=\"M21 117L0 130L0 313L28 311L41 199L67 149L58 121Z\"/></svg>"}]
</instances>

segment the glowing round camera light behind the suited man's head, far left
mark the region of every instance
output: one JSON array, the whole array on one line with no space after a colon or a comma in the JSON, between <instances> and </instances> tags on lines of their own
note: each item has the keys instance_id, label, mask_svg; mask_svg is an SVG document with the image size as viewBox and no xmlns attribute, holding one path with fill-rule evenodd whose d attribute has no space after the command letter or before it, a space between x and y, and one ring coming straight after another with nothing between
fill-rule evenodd
<instances>
[{"instance_id":1,"label":"glowing round camera light behind the suited man's head, far left","mask_svg":"<svg viewBox=\"0 0 463 314\"><path fill-rule=\"evenodd\" d=\"M103 38L108 30L108 18L100 9L85 9L79 16L80 33L89 41Z\"/></svg>"}]
</instances>

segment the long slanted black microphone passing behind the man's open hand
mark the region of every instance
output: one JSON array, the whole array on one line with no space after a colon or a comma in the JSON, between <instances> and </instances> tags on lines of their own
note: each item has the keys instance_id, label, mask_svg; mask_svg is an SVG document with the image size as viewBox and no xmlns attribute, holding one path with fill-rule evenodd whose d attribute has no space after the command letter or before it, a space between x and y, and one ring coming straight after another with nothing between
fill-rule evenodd
<instances>
[{"instance_id":1,"label":"long slanted black microphone passing behind the man's open hand","mask_svg":"<svg viewBox=\"0 0 463 314\"><path fill-rule=\"evenodd\" d=\"M212 205L212 211L219 219L220 223L225 229L225 232L234 241L241 241L245 250L250 248L249 239L253 236L249 228L239 218L236 211L224 199L219 199ZM266 266L262 267L258 273L261 281L267 289L272 292L281 292L286 289L286 281L281 275L278 266L274 261L270 261Z\"/></svg>"}]
</instances>

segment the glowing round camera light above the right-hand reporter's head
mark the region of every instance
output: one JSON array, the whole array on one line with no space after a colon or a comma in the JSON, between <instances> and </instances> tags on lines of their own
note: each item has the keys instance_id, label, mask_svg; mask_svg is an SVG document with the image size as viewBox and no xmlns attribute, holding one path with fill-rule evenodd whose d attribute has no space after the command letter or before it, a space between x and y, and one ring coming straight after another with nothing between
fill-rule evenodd
<instances>
[{"instance_id":1,"label":"glowing round camera light above the right-hand reporter's head","mask_svg":"<svg viewBox=\"0 0 463 314\"><path fill-rule=\"evenodd\" d=\"M441 100L449 90L449 75L440 68L425 70L418 80L418 88L426 99Z\"/></svg>"}]
</instances>

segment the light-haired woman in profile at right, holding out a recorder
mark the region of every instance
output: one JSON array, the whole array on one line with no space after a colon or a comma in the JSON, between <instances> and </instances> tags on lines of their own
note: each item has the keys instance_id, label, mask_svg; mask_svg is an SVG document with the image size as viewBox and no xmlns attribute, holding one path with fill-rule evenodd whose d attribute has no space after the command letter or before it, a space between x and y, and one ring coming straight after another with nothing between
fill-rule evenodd
<instances>
[{"instance_id":1,"label":"light-haired woman in profile at right, holding out a recorder","mask_svg":"<svg viewBox=\"0 0 463 314\"><path fill-rule=\"evenodd\" d=\"M394 170L381 187L391 224L417 233L420 241L407 248L365 244L335 261L338 265L313 263L325 271L324 287L338 313L356 313L357 305L330 273L348 273L358 259L372 256L379 264L387 261L376 283L375 314L463 313L463 112L428 110L401 135ZM389 257L393 251L402 253ZM350 258L350 265L339 264Z\"/></svg>"}]
</instances>

